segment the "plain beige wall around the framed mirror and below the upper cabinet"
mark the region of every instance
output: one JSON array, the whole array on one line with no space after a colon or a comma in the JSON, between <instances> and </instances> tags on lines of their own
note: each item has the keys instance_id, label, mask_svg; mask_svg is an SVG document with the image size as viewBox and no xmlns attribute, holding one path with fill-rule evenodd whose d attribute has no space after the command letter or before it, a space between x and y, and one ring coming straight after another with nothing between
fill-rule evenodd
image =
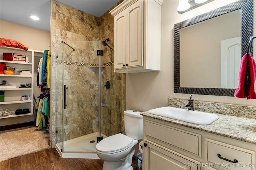
<instances>
[{"instance_id":1,"label":"plain beige wall around the framed mirror and below the upper cabinet","mask_svg":"<svg viewBox=\"0 0 256 170\"><path fill-rule=\"evenodd\" d=\"M214 0L179 14L176 10L178 0L164 0L161 7L161 71L126 75L126 109L147 111L168 106L168 98L188 99L190 94L177 94L173 91L173 25L234 1L236 0ZM193 94L192 98L198 101L256 106L255 100L235 97Z\"/></svg>"}]
</instances>

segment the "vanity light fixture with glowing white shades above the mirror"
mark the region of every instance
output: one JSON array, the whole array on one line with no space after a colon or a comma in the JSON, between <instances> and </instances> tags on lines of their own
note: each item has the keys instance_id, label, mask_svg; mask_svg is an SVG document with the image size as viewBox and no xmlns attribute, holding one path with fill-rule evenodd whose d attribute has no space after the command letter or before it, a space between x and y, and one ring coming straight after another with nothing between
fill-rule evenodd
<instances>
[{"instance_id":1,"label":"vanity light fixture with glowing white shades above the mirror","mask_svg":"<svg viewBox=\"0 0 256 170\"><path fill-rule=\"evenodd\" d=\"M179 0L179 5L177 8L178 13L182 14L198 6L202 6L207 4L213 0Z\"/></svg>"}]
</instances>

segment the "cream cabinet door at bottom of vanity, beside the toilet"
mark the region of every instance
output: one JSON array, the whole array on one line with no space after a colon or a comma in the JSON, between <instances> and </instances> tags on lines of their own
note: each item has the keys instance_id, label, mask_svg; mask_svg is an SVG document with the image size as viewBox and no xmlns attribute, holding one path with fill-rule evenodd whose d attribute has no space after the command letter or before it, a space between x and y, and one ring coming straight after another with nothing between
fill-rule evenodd
<instances>
[{"instance_id":1,"label":"cream cabinet door at bottom of vanity, beside the toilet","mask_svg":"<svg viewBox=\"0 0 256 170\"><path fill-rule=\"evenodd\" d=\"M200 163L177 152L149 143L144 147L142 162L145 170L199 170Z\"/></svg>"}]
</instances>

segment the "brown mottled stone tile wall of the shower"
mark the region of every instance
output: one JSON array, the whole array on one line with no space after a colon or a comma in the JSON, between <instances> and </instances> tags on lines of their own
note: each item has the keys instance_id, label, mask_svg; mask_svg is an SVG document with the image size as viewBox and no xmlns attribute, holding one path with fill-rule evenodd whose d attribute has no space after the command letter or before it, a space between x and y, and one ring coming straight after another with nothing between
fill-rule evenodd
<instances>
[{"instance_id":1,"label":"brown mottled stone tile wall of the shower","mask_svg":"<svg viewBox=\"0 0 256 170\"><path fill-rule=\"evenodd\" d=\"M64 4L52 1L52 134L51 147L62 141L61 100L56 95L62 95L57 87L62 86L62 72L56 68L62 65L62 61L56 60L60 52L58 45L61 41L69 41L69 45L75 51L65 46L65 70L64 80L68 87L66 100L68 106L64 112L64 140L73 139L82 135L98 131L98 67L90 67L90 64L98 64L96 51L88 51L84 41L98 41L110 38L108 45L113 47L114 18L109 12L97 18ZM74 41L74 42L70 42ZM78 42L80 41L80 42ZM98 46L98 44L96 44ZM108 48L108 47L107 47ZM125 76L113 72L113 52L104 49L102 57L102 133L113 135L120 131L122 112L125 106L124 87ZM57 75L57 77L56 77ZM106 90L104 84L110 81L111 88ZM56 130L58 131L56 135Z\"/></svg>"}]
</instances>

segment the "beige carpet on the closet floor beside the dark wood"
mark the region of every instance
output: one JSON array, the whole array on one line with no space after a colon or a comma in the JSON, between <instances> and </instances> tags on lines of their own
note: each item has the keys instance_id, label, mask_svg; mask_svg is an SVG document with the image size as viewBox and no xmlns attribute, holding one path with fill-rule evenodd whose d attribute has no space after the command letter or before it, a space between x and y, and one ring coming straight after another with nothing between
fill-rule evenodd
<instances>
[{"instance_id":1,"label":"beige carpet on the closet floor beside the dark wood","mask_svg":"<svg viewBox=\"0 0 256 170\"><path fill-rule=\"evenodd\" d=\"M49 133L36 126L22 127L0 132L0 162L50 148Z\"/></svg>"}]
</instances>

